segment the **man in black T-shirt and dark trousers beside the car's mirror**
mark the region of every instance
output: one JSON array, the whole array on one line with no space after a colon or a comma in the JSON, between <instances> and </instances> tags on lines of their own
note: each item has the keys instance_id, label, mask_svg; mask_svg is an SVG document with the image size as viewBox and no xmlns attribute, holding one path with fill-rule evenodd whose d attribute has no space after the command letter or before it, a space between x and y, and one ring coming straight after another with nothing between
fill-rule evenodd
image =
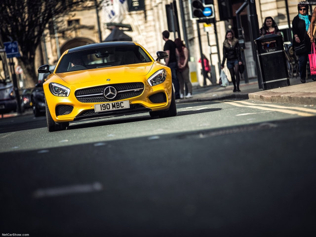
<instances>
[{"instance_id":1,"label":"man in black T-shirt and dark trousers beside the car's mirror","mask_svg":"<svg viewBox=\"0 0 316 237\"><path fill-rule=\"evenodd\" d=\"M165 44L163 46L163 51L167 52L169 54L169 57L166 58L165 65L171 69L171 78L172 78L172 84L174 88L174 95L176 99L180 99L180 92L179 92L179 80L177 78L177 57L176 57L176 44L169 40L170 33L169 31L162 32L162 39L165 41Z\"/></svg>"}]
</instances>

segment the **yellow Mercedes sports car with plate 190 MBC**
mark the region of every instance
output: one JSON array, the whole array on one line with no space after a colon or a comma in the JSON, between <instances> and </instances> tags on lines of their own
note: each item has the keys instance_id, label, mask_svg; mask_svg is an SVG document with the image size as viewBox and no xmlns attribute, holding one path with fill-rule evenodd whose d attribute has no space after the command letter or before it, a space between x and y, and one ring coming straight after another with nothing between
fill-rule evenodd
<instances>
[{"instance_id":1,"label":"yellow Mercedes sports car with plate 190 MBC","mask_svg":"<svg viewBox=\"0 0 316 237\"><path fill-rule=\"evenodd\" d=\"M134 42L104 42L66 50L43 83L48 131L69 122L149 112L152 117L177 115L170 68Z\"/></svg>"}]
</instances>

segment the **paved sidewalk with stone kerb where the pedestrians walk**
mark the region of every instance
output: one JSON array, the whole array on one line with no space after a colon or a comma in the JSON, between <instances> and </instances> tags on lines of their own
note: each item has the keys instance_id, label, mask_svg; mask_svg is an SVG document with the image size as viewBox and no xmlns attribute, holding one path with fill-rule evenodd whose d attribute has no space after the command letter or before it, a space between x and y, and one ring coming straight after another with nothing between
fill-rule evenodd
<instances>
[{"instance_id":1,"label":"paved sidewalk with stone kerb where the pedestrians walk","mask_svg":"<svg viewBox=\"0 0 316 237\"><path fill-rule=\"evenodd\" d=\"M251 99L268 103L316 105L316 81L312 79L302 83L299 78L290 79L290 86L270 90L259 88L257 79L249 79L249 83L240 82L241 92L233 92L234 86L230 82L227 87L220 85L194 86L193 97L178 99L177 103L211 101L223 99Z\"/></svg>"}]
</instances>

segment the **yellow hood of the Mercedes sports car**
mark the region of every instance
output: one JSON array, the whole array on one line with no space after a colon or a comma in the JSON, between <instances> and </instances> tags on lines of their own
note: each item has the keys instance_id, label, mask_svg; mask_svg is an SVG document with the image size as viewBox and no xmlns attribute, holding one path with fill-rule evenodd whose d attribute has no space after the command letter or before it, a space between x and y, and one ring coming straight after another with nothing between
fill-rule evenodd
<instances>
[{"instance_id":1,"label":"yellow hood of the Mercedes sports car","mask_svg":"<svg viewBox=\"0 0 316 237\"><path fill-rule=\"evenodd\" d=\"M77 72L56 74L68 84L78 84L96 80L111 79L111 81L120 81L126 77L134 78L147 75L153 67L153 63L143 63L137 65L118 66L111 68L98 68L90 70L81 70Z\"/></svg>"}]
</instances>

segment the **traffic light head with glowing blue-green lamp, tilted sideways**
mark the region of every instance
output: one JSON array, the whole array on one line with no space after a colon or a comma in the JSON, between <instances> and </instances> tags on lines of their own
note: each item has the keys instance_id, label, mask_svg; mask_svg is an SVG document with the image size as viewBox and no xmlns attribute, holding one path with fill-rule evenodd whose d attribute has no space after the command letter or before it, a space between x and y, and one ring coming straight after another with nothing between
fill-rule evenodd
<instances>
[{"instance_id":1,"label":"traffic light head with glowing blue-green lamp, tilted sideways","mask_svg":"<svg viewBox=\"0 0 316 237\"><path fill-rule=\"evenodd\" d=\"M205 20L215 17L213 0L189 0L189 4L192 20Z\"/></svg>"}]
</instances>

